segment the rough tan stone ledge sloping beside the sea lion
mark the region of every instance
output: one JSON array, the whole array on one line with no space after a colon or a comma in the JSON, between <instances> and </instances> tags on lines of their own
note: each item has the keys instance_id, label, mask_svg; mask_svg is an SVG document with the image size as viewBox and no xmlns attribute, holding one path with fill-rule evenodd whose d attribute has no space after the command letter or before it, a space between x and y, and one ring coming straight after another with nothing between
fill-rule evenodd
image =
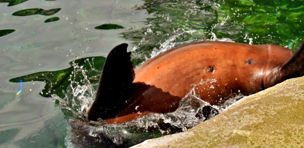
<instances>
[{"instance_id":1,"label":"rough tan stone ledge sloping beside the sea lion","mask_svg":"<svg viewBox=\"0 0 304 148\"><path fill-rule=\"evenodd\" d=\"M304 76L234 103L192 129L134 148L304 148Z\"/></svg>"}]
</instances>

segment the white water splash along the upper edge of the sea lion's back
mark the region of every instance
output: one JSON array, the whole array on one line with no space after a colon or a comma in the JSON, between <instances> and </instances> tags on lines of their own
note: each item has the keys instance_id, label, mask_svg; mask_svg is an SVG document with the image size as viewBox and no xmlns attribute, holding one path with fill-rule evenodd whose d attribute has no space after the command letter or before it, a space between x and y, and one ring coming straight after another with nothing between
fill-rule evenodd
<instances>
[{"instance_id":1,"label":"white water splash along the upper edge of the sea lion's back","mask_svg":"<svg viewBox=\"0 0 304 148\"><path fill-rule=\"evenodd\" d=\"M196 15L201 10L197 10L197 6L193 6L189 12L185 12L186 14ZM170 16L167 16L165 19L170 21ZM132 51L132 59L133 61L135 59L142 59L144 60L139 64L150 60L151 58L169 50L172 49L178 45L182 45L185 43L195 42L195 41L203 41L203 40L214 40L214 41L228 41L228 42L234 42L232 39L228 37L218 38L216 34L213 32L214 29L220 30L221 27L227 26L227 20L229 19L229 15L225 17L221 22L216 23L212 25L211 31L208 33L208 31L205 30L195 30L190 29L186 27L185 25L182 27L179 27L177 29L173 29L172 32L163 34L161 32L153 31L153 25L151 23L148 24L146 31L144 32L144 37L142 37L141 41L138 45L135 45L133 47ZM187 20L186 20L187 23ZM205 38L206 35L211 35L211 38ZM189 38L191 39L187 41L180 41L180 38ZM158 43L155 45L155 43ZM149 46L153 46L152 50L145 49ZM144 51L145 49L146 51ZM137 65L137 64L136 64Z\"/></svg>"}]
</instances>

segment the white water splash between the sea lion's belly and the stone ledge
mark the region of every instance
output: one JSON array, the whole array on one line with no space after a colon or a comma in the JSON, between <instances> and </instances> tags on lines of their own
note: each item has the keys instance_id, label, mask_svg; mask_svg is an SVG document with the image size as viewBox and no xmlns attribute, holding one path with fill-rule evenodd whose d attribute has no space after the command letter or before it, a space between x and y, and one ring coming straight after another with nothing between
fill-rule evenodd
<instances>
[{"instance_id":1,"label":"white water splash between the sea lion's belly and the stone ledge","mask_svg":"<svg viewBox=\"0 0 304 148\"><path fill-rule=\"evenodd\" d=\"M204 81L205 83L206 81ZM208 80L213 83L214 80ZM79 139L79 135L69 130L66 145L72 141L81 140L82 143L113 143L117 147L130 147L147 139L157 138L168 134L186 131L199 123L210 119L226 110L230 104L240 99L241 95L233 97L221 106L212 106L201 100L196 94L195 87L181 100L176 111L168 113L150 113L133 121L121 124L108 124L101 121L83 122L86 125L86 134L94 137L91 139ZM73 121L72 121L73 122ZM75 129L75 128L74 128ZM76 128L78 129L78 128ZM80 136L82 137L82 136Z\"/></svg>"}]
</instances>

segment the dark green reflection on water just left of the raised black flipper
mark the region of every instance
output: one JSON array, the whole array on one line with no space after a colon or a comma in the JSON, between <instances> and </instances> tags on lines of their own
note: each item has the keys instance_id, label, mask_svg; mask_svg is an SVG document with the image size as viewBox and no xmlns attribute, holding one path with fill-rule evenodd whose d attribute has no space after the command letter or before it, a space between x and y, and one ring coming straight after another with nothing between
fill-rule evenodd
<instances>
[{"instance_id":1,"label":"dark green reflection on water just left of the raised black flipper","mask_svg":"<svg viewBox=\"0 0 304 148\"><path fill-rule=\"evenodd\" d=\"M45 82L46 85L40 92L41 96L51 97L52 94L56 94L64 98L66 94L64 94L63 91L67 90L67 87L73 79L76 79L78 85L84 84L82 81L84 76L88 77L92 84L97 83L105 59L105 57L80 58L70 62L71 67L64 70L39 72L12 78L9 81L19 82L20 79L22 79L23 82L42 81Z\"/></svg>"}]
</instances>

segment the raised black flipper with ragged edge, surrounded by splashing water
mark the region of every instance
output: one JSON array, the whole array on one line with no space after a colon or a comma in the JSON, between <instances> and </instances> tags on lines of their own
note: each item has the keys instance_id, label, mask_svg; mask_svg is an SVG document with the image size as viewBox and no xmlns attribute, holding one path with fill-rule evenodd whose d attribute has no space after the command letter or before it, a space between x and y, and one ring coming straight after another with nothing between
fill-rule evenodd
<instances>
[{"instance_id":1,"label":"raised black flipper with ragged edge, surrounded by splashing water","mask_svg":"<svg viewBox=\"0 0 304 148\"><path fill-rule=\"evenodd\" d=\"M96 99L88 110L89 120L114 118L130 98L134 79L128 44L120 44L109 53L99 79Z\"/></svg>"}]
</instances>

